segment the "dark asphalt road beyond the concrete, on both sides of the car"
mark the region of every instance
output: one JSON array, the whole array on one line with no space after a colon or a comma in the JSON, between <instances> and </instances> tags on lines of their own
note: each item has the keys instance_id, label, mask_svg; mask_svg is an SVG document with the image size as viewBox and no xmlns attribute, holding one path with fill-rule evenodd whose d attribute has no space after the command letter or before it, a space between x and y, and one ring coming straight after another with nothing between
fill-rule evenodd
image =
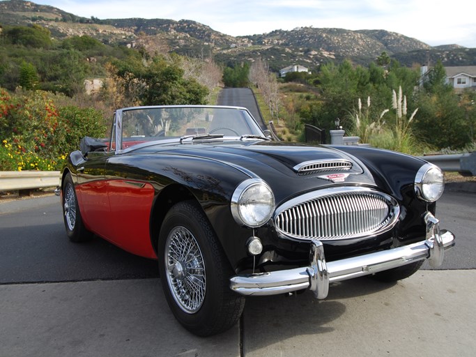
<instances>
[{"instance_id":1,"label":"dark asphalt road beyond the concrete, on both sides of the car","mask_svg":"<svg viewBox=\"0 0 476 357\"><path fill-rule=\"evenodd\" d=\"M58 197L33 202L36 206L24 201L17 212L0 213L0 284L158 278L155 261L100 238L70 243ZM440 227L456 235L456 248L447 252L440 269L476 268L475 207L476 195L465 192L445 192L438 201Z\"/></svg>"}]
</instances>

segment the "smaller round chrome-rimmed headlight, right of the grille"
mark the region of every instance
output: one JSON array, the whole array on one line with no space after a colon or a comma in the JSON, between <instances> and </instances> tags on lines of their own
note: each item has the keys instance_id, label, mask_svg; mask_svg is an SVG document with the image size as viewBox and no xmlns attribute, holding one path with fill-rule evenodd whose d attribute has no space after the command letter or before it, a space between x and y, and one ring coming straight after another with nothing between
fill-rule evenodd
<instances>
[{"instance_id":1,"label":"smaller round chrome-rimmed headlight, right of the grille","mask_svg":"<svg viewBox=\"0 0 476 357\"><path fill-rule=\"evenodd\" d=\"M445 179L441 169L432 164L423 165L415 177L415 192L420 199L435 202L443 195Z\"/></svg>"}]
</instances>

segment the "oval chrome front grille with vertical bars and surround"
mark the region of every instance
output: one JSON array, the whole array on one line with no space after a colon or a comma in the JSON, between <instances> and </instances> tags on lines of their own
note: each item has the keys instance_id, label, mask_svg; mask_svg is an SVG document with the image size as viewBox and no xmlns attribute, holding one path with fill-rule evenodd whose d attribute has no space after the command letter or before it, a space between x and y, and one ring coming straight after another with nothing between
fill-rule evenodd
<instances>
[{"instance_id":1,"label":"oval chrome front grille with vertical bars and surround","mask_svg":"<svg viewBox=\"0 0 476 357\"><path fill-rule=\"evenodd\" d=\"M340 187L309 192L282 204L273 220L279 236L298 241L374 236L399 218L398 202L371 188Z\"/></svg>"}]
</instances>

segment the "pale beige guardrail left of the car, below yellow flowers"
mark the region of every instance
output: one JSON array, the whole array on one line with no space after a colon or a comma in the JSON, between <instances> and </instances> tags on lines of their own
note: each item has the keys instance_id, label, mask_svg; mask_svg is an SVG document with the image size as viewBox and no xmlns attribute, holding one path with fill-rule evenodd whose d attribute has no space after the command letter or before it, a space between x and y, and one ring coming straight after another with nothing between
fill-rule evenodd
<instances>
[{"instance_id":1,"label":"pale beige guardrail left of the car, below yellow flowers","mask_svg":"<svg viewBox=\"0 0 476 357\"><path fill-rule=\"evenodd\" d=\"M56 187L59 178L59 171L2 171L0 191Z\"/></svg>"}]
</instances>

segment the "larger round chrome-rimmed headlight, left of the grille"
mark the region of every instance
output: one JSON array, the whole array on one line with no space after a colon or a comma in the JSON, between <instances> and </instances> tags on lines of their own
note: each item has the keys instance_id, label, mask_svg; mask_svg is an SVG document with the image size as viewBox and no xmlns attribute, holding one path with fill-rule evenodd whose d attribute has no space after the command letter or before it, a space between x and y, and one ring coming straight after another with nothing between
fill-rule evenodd
<instances>
[{"instance_id":1,"label":"larger round chrome-rimmed headlight, left of the grille","mask_svg":"<svg viewBox=\"0 0 476 357\"><path fill-rule=\"evenodd\" d=\"M231 213L238 225L256 228L270 220L275 210L275 196L259 179L240 183L231 197Z\"/></svg>"}]
</instances>

